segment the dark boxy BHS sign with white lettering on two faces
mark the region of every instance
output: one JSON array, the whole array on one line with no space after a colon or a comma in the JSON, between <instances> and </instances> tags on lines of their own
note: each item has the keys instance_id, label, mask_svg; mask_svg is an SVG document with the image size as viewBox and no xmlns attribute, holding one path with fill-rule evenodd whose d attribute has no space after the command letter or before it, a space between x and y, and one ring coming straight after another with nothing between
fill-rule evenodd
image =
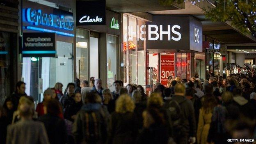
<instances>
[{"instance_id":1,"label":"dark boxy BHS sign with white lettering on two faces","mask_svg":"<svg viewBox=\"0 0 256 144\"><path fill-rule=\"evenodd\" d=\"M146 22L146 49L202 52L202 23L191 16L153 16Z\"/></svg>"}]
</instances>

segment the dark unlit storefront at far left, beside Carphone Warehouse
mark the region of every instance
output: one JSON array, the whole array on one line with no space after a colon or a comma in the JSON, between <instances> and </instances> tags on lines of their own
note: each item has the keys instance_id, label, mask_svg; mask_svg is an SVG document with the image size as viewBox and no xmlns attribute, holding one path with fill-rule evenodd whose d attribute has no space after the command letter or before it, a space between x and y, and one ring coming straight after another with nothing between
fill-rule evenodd
<instances>
[{"instance_id":1,"label":"dark unlit storefront at far left, beside Carphone Warehouse","mask_svg":"<svg viewBox=\"0 0 256 144\"><path fill-rule=\"evenodd\" d=\"M1 2L0 15L0 105L15 89L18 80L18 5Z\"/></svg>"}]
</instances>

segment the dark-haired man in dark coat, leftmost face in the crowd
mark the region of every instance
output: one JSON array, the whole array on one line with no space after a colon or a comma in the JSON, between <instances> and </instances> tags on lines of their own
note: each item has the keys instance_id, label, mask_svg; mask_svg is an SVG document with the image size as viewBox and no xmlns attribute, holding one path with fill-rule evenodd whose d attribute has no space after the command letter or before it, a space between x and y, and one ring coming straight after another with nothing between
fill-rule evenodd
<instances>
[{"instance_id":1,"label":"dark-haired man in dark coat, leftmost face in the crowd","mask_svg":"<svg viewBox=\"0 0 256 144\"><path fill-rule=\"evenodd\" d=\"M27 94L25 93L25 85L25 82L18 81L16 83L16 90L11 94L11 98L14 101L14 110L17 110L21 96L27 96Z\"/></svg>"}]
</instances>

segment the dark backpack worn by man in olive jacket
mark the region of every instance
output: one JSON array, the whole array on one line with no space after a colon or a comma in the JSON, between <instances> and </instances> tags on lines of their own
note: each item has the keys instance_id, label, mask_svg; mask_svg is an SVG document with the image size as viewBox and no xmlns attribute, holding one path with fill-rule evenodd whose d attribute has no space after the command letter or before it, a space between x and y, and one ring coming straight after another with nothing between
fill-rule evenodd
<instances>
[{"instance_id":1,"label":"dark backpack worn by man in olive jacket","mask_svg":"<svg viewBox=\"0 0 256 144\"><path fill-rule=\"evenodd\" d=\"M183 101L185 102L185 101ZM171 117L171 123L173 127L173 131L176 136L181 137L185 133L185 128L183 123L185 122L183 110L181 110L181 104L177 101L171 99L169 103L165 106L169 116Z\"/></svg>"}]
</instances>

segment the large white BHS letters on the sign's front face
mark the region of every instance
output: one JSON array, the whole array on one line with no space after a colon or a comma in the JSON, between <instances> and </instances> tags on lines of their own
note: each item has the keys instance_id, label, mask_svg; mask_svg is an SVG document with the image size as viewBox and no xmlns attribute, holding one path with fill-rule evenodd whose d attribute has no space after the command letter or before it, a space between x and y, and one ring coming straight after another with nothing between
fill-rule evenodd
<instances>
[{"instance_id":1,"label":"large white BHS letters on the sign's front face","mask_svg":"<svg viewBox=\"0 0 256 144\"><path fill-rule=\"evenodd\" d=\"M162 29L162 25L160 25L160 34L158 34L158 26L157 25L148 25L149 29L149 41L156 41L159 39L159 35L160 35L160 41L162 41L162 36L163 34L167 34L168 36L168 41L174 40L174 41L179 41L181 40L181 33L177 32L175 29L180 29L181 27L179 25L174 25L171 27L171 25L167 25L167 31L163 31ZM155 30L152 30L152 28L155 28ZM171 37L171 32L176 34L177 36L172 36ZM152 37L152 34L155 35L155 37Z\"/></svg>"}]
</instances>

